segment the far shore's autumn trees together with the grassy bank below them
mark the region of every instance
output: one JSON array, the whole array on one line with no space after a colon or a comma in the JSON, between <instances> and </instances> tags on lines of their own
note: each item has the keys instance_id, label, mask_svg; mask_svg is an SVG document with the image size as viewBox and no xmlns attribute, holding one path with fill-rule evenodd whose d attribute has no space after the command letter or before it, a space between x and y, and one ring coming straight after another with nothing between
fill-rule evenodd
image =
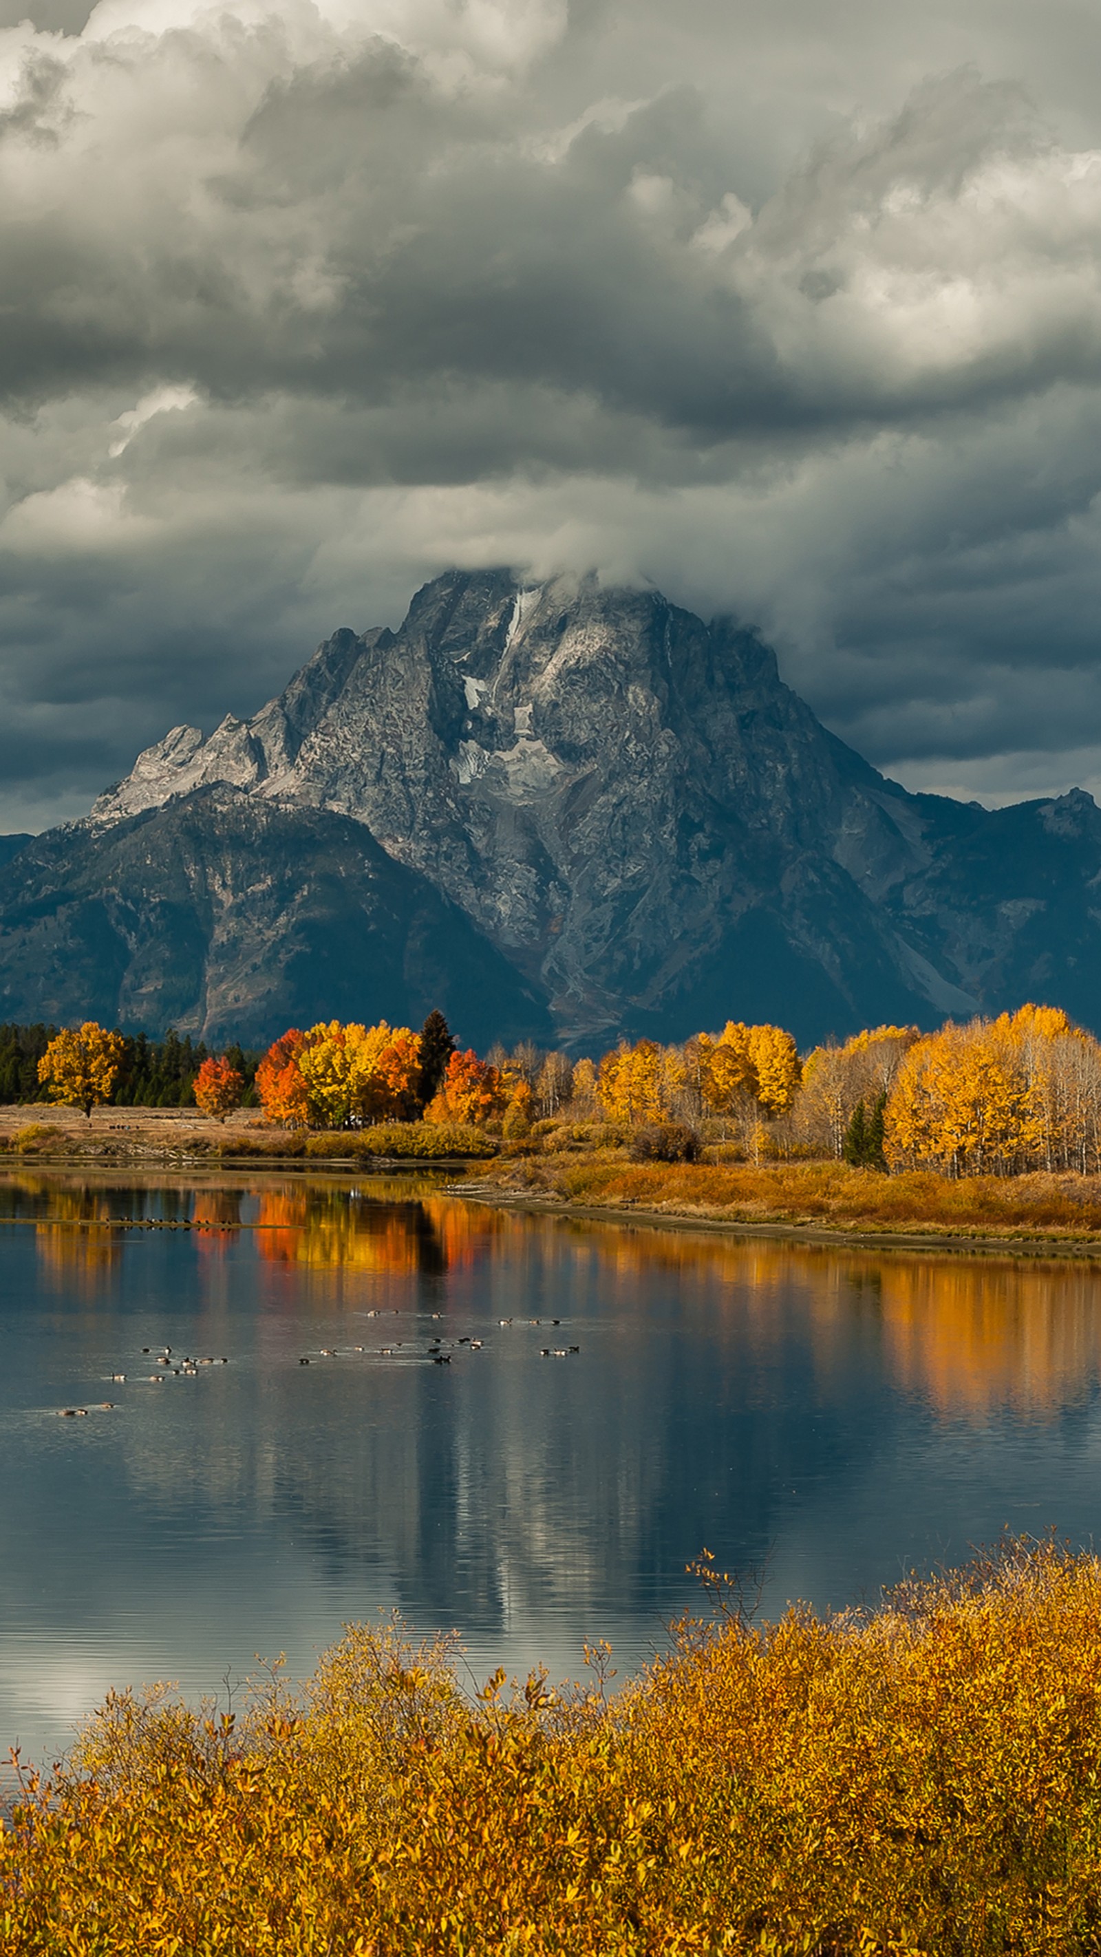
<instances>
[{"instance_id":1,"label":"far shore's autumn trees together with the grassy bank below them","mask_svg":"<svg viewBox=\"0 0 1101 1957\"><path fill-rule=\"evenodd\" d=\"M20 1092L51 1106L0 1106L0 1159L420 1164L481 1202L620 1221L1036 1254L1101 1243L1101 1047L1046 1006L802 1057L782 1027L727 1022L598 1061L530 1043L483 1059L438 1012L420 1033L291 1027L266 1053L141 1045L94 1022L4 1041L23 1055Z\"/></svg>"}]
</instances>

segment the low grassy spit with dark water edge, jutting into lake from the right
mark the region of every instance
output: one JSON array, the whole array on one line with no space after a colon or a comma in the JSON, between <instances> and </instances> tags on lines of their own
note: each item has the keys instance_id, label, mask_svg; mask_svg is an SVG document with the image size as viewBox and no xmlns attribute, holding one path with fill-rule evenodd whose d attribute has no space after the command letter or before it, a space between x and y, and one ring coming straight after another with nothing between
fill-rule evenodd
<instances>
[{"instance_id":1,"label":"low grassy spit with dark water edge, jutting into lake from the right","mask_svg":"<svg viewBox=\"0 0 1101 1957\"><path fill-rule=\"evenodd\" d=\"M976 1245L1101 1254L1101 1178L882 1176L845 1162L630 1162L622 1151L522 1155L467 1170L456 1194L616 1221L737 1229L898 1249Z\"/></svg>"}]
</instances>

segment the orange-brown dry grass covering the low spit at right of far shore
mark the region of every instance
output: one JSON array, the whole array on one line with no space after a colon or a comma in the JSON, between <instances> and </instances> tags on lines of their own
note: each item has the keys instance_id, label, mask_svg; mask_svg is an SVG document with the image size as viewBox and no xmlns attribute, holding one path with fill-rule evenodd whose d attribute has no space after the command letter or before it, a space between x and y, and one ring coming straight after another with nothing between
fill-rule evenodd
<instances>
[{"instance_id":1,"label":"orange-brown dry grass covering the low spit at right of far shore","mask_svg":"<svg viewBox=\"0 0 1101 1957\"><path fill-rule=\"evenodd\" d=\"M741 1223L817 1223L982 1235L1074 1235L1101 1229L1101 1178L1074 1174L880 1176L845 1162L628 1162L622 1153L526 1157L479 1168L514 1196L585 1207L649 1209Z\"/></svg>"}]
</instances>

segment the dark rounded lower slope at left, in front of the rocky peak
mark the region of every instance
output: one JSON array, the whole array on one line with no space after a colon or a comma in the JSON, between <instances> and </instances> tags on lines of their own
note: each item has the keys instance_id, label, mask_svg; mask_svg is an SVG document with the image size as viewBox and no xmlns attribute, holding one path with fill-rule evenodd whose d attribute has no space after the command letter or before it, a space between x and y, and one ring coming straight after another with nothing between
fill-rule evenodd
<instances>
[{"instance_id":1,"label":"dark rounded lower slope at left, in front of the rocky peak","mask_svg":"<svg viewBox=\"0 0 1101 1957\"><path fill-rule=\"evenodd\" d=\"M207 787L111 828L51 830L0 869L0 1016L268 1041L319 1018L550 1037L454 904L362 824Z\"/></svg>"}]
</instances>

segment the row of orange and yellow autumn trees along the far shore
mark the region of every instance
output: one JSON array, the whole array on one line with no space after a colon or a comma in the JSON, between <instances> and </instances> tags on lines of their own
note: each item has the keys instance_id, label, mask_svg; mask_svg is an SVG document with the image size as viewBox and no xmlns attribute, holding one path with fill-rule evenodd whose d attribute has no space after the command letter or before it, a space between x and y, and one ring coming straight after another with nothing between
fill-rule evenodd
<instances>
[{"instance_id":1,"label":"row of orange and yellow autumn trees along the far shore","mask_svg":"<svg viewBox=\"0 0 1101 1957\"><path fill-rule=\"evenodd\" d=\"M731 1020L679 1045L624 1039L579 1061L530 1041L460 1051L440 1012L418 1033L385 1020L289 1027L262 1055L213 1055L174 1033L127 1039L94 1022L0 1027L0 1080L88 1112L196 1104L225 1119L250 1096L287 1127L424 1119L522 1141L575 1123L598 1141L602 1123L651 1135L665 1159L726 1145L753 1161L833 1157L884 1172L1101 1170L1101 1045L1033 1004L935 1033L878 1025L806 1055L784 1027Z\"/></svg>"}]
</instances>

